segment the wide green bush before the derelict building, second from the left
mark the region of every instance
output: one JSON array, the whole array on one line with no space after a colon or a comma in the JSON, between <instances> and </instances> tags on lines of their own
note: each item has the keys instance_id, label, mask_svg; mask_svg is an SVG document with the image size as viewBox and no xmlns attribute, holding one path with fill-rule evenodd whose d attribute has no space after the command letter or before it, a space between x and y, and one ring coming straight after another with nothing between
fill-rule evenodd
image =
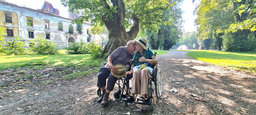
<instances>
[{"instance_id":1,"label":"wide green bush before the derelict building, second from the left","mask_svg":"<svg viewBox=\"0 0 256 115\"><path fill-rule=\"evenodd\" d=\"M32 47L30 48L33 53L37 55L56 55L59 54L58 44L54 44L52 40L46 40L43 37L37 37L32 41Z\"/></svg>"}]
</instances>

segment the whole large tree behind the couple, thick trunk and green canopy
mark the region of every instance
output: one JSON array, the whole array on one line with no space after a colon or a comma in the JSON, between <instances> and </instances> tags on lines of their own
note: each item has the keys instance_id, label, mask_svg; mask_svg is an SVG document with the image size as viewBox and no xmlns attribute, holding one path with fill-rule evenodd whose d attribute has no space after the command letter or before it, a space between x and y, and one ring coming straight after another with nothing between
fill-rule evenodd
<instances>
[{"instance_id":1,"label":"whole large tree behind the couple, thick trunk and green canopy","mask_svg":"<svg viewBox=\"0 0 256 115\"><path fill-rule=\"evenodd\" d=\"M134 40L140 29L157 30L163 11L170 7L168 0L61 0L70 11L84 9L75 21L90 21L94 28L106 26L108 43L104 53L111 53L127 41ZM129 29L128 31L126 31ZM97 29L95 29L97 30Z\"/></svg>"}]
</instances>

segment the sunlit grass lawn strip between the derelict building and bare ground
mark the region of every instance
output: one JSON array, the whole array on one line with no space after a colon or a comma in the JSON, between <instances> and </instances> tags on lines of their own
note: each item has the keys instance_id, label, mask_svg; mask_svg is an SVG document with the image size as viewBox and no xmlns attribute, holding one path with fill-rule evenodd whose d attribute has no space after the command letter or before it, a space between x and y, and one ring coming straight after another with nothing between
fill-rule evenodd
<instances>
[{"instance_id":1,"label":"sunlit grass lawn strip between the derelict building and bare ground","mask_svg":"<svg viewBox=\"0 0 256 115\"><path fill-rule=\"evenodd\" d=\"M1 56L0 70L18 67L40 66L100 66L104 60L93 60L86 55L25 55L25 56Z\"/></svg>"}]
</instances>

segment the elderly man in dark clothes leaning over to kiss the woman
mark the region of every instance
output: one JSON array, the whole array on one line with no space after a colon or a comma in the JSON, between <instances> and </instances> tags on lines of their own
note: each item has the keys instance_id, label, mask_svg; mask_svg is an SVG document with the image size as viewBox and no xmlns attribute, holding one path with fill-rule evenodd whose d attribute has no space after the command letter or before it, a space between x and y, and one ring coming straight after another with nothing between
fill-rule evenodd
<instances>
[{"instance_id":1,"label":"elderly man in dark clothes leaning over to kiss the woman","mask_svg":"<svg viewBox=\"0 0 256 115\"><path fill-rule=\"evenodd\" d=\"M133 59L134 51L134 41L128 41L126 47L119 47L115 49L115 51L108 56L108 63L106 66L100 68L97 86L100 87L103 93L101 97L97 99L97 102L101 102L101 105L106 106L108 104L108 95L114 89L115 82L118 80L118 78L111 74L111 71L115 73L117 72L117 68L114 65L118 63L129 64L130 59ZM109 79L106 89L106 80L108 77Z\"/></svg>"}]
</instances>

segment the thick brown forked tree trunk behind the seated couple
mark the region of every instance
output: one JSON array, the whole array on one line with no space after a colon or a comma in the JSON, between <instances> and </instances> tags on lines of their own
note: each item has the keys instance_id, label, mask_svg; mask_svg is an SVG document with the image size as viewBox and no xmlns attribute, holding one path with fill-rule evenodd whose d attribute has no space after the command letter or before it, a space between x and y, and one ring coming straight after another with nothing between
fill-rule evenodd
<instances>
[{"instance_id":1,"label":"thick brown forked tree trunk behind the seated couple","mask_svg":"<svg viewBox=\"0 0 256 115\"><path fill-rule=\"evenodd\" d=\"M113 6L117 6L117 13L112 13L112 21L108 20L106 16L102 17L105 26L108 29L108 43L104 47L104 51L101 57L104 57L105 53L109 55L118 47L126 46L127 41L134 40L139 32L138 18L134 16L134 24L129 32L126 32L125 28L125 3L120 0L111 0ZM106 7L108 7L106 5Z\"/></svg>"}]
</instances>

